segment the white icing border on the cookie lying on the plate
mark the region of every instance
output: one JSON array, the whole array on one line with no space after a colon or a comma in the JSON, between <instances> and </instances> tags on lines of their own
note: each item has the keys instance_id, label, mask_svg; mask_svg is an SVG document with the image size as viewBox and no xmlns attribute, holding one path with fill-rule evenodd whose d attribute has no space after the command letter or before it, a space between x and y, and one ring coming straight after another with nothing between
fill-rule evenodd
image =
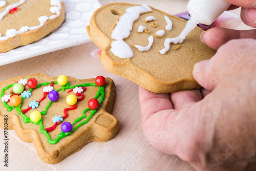
<instances>
[{"instance_id":1,"label":"white icing border on the cookie lying on the plate","mask_svg":"<svg viewBox=\"0 0 256 171\"><path fill-rule=\"evenodd\" d=\"M23 4L24 2L25 2L26 0L20 0L18 3L16 3L16 4L12 4L12 5L10 5L12 8L15 8L15 7L17 7L18 6L18 4L20 5L20 4ZM17 34L21 34L21 33L24 33L24 32L26 32L26 31L29 31L29 30L35 30L35 29L39 29L40 27L42 27L42 26L44 26L45 25L45 23L47 22L47 20L49 20L49 19L54 19L54 18L56 18L56 17L58 17L59 15L60 15L60 10L61 10L61 2L62 2L63 0L51 0L51 5L54 5L54 7L51 7L50 8L50 12L52 12L52 13L55 13L56 15L51 15L51 16L40 16L39 18L38 18L38 20L39 20L39 22L40 22L40 24L38 25L38 26L32 26L32 27L28 27L28 26L23 26L22 28L20 28L18 31L16 31L15 29L9 29L9 30L7 30L6 31L6 36L4 36L4 37L2 37L2 34L0 33L0 40L7 40L8 38L10 38L10 37L14 37L15 35L17 35ZM17 6L16 6L17 5ZM55 6L56 5L56 6ZM10 7L10 6L8 6L8 7ZM7 7L7 8L8 8ZM12 9L11 8L11 9ZM6 11L6 10L5 10ZM4 12L5 12L4 11ZM10 10L8 10L8 12L9 12ZM2 12L3 13L3 12ZM3 19L3 17L1 18L1 15L2 15L2 13L0 14L0 21ZM7 14L7 13L6 13ZM5 14L5 15L6 15ZM5 16L4 15L4 16Z\"/></svg>"}]
</instances>

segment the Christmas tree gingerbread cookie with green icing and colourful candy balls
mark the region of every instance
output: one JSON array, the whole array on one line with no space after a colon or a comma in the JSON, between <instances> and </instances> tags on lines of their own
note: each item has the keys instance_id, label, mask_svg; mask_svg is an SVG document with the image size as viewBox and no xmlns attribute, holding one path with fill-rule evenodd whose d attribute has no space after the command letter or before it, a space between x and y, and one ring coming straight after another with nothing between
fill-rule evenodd
<instances>
[{"instance_id":1,"label":"Christmas tree gingerbread cookie with green icing and colourful candy balls","mask_svg":"<svg viewBox=\"0 0 256 171\"><path fill-rule=\"evenodd\" d=\"M78 80L38 73L0 83L0 127L32 142L40 159L58 163L91 141L112 139L119 129L111 115L112 79Z\"/></svg>"}]
</instances>

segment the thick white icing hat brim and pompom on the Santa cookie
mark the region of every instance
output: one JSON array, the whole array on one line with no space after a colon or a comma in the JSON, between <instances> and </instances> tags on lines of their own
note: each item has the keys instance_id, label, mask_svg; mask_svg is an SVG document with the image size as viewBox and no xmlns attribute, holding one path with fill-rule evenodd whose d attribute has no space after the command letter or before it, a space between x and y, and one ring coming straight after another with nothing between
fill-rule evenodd
<instances>
[{"instance_id":1,"label":"thick white icing hat brim and pompom on the Santa cookie","mask_svg":"<svg viewBox=\"0 0 256 171\"><path fill-rule=\"evenodd\" d=\"M119 17L117 25L113 30L111 37L116 41L111 43L111 52L120 58L132 58L133 51L124 38L130 36L130 32L133 29L133 23L137 20L141 13L150 12L152 9L145 4L141 6L133 6L127 8L125 13Z\"/></svg>"}]
</instances>

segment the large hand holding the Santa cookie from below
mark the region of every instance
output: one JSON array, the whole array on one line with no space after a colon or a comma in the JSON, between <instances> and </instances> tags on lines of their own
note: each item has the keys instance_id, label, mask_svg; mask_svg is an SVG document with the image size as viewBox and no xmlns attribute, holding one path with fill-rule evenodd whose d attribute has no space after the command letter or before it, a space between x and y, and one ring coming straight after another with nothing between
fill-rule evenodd
<instances>
[{"instance_id":1,"label":"large hand holding the Santa cookie from below","mask_svg":"<svg viewBox=\"0 0 256 171\"><path fill-rule=\"evenodd\" d=\"M255 165L255 56L256 40L231 40L195 65L194 78L207 90L155 94L140 87L146 139L197 170Z\"/></svg>"}]
</instances>

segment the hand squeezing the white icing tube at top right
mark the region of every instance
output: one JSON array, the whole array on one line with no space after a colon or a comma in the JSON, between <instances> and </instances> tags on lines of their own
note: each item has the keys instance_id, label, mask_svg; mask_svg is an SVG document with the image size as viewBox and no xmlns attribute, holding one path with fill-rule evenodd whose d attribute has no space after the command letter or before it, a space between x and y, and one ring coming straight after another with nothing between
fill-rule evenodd
<instances>
[{"instance_id":1,"label":"hand squeezing the white icing tube at top right","mask_svg":"<svg viewBox=\"0 0 256 171\"><path fill-rule=\"evenodd\" d=\"M256 1L226 0L234 4L229 9L241 8L241 19L243 22L253 28L256 28ZM227 41L238 38L256 39L256 30L231 30L224 28L212 28L203 32L202 41L212 49L219 49Z\"/></svg>"}]
</instances>

